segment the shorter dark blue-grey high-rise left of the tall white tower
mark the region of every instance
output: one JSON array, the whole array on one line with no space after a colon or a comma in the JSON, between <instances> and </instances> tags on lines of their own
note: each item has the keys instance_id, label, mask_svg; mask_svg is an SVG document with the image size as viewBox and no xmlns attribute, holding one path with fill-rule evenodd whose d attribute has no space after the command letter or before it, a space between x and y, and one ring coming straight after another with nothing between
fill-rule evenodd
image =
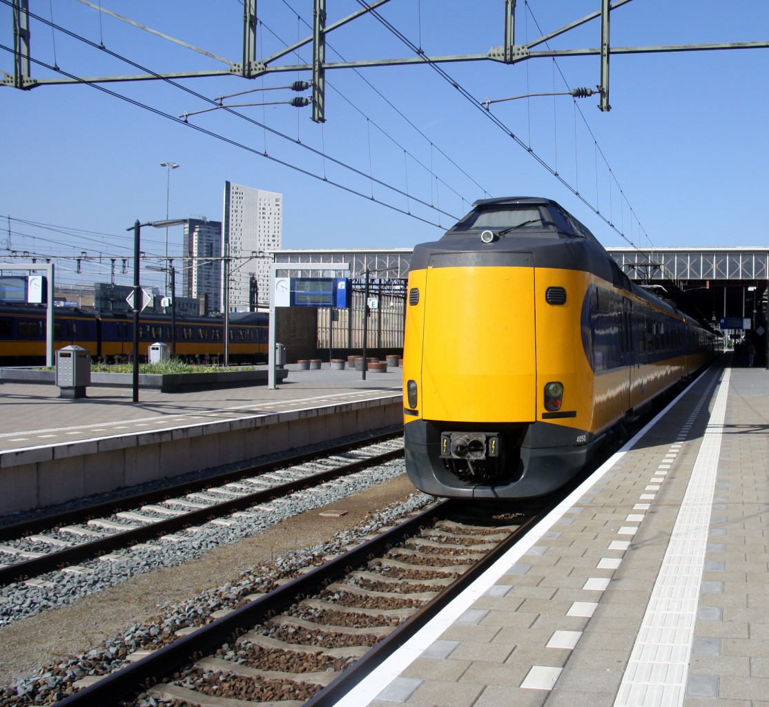
<instances>
[{"instance_id":1,"label":"shorter dark blue-grey high-rise left of the tall white tower","mask_svg":"<svg viewBox=\"0 0 769 707\"><path fill-rule=\"evenodd\" d=\"M190 218L185 224L183 248L181 282L185 297L208 295L208 311L221 312L221 221Z\"/></svg>"}]
</instances>

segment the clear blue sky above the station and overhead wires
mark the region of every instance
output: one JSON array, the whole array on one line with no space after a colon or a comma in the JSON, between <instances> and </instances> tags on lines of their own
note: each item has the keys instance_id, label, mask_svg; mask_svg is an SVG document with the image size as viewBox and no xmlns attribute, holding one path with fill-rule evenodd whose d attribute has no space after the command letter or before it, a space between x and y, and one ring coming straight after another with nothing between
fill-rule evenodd
<instances>
[{"instance_id":1,"label":"clear blue sky above the station and overhead wires","mask_svg":"<svg viewBox=\"0 0 769 707\"><path fill-rule=\"evenodd\" d=\"M215 55L241 58L238 0L188 0L184 15L168 0L101 5ZM359 8L355 0L328 0L328 23ZM599 8L599 0L518 0L516 42ZM77 0L30 0L30 10L153 72L225 66ZM258 58L311 33L305 24L311 0L263 0L258 10ZM503 0L391 0L381 15L426 55L485 53L503 42ZM0 28L0 44L11 46L12 15L4 2ZM751 42L766 38L767 28L764 2L633 0L611 13L611 44ZM594 20L550 47L599 44ZM411 56L411 48L371 17L328 36L327 61ZM76 76L143 72L34 20L32 57ZM309 62L305 46L280 63ZM441 68L478 102L594 88L600 80L597 57ZM5 50L0 69L13 70ZM32 75L55 74L33 65ZM604 245L765 245L767 75L769 49L613 55L611 112L598 110L597 96L576 105L568 96L492 105L505 129L428 66L328 71L323 125L311 121L309 107L267 105L235 109L247 119L225 111L191 116L198 130L141 107L178 117L210 106L205 98L285 86L308 79L308 72L250 82L222 76L178 86L104 85L131 102L87 85L2 87L0 258L8 245L39 256L85 251L91 260L84 272L77 275L74 261L62 261L59 281L107 279L108 258L132 254L126 228L137 218L165 218L163 161L181 165L170 175L171 217L221 219L225 180L281 192L285 248L411 247L438 238L475 199L504 195L554 198ZM232 102L295 95L255 92ZM170 254L178 254L181 228L170 236ZM147 228L142 238L149 255L165 255L164 232ZM148 274L147 281L153 277L162 275ZM130 278L118 274L118 281Z\"/></svg>"}]
</instances>

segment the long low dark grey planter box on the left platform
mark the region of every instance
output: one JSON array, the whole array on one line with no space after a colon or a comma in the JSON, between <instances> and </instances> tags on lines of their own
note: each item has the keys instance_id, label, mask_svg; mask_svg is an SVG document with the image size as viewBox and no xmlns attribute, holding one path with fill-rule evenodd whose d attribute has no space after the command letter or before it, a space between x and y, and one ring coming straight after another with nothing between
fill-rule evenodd
<instances>
[{"instance_id":1,"label":"long low dark grey planter box on the left platform","mask_svg":"<svg viewBox=\"0 0 769 707\"><path fill-rule=\"evenodd\" d=\"M287 369L276 369L275 381L281 382L288 375ZM55 385L55 371L35 369L0 369L0 383L42 383ZM244 385L267 385L268 370L228 371L221 373L167 373L165 375L140 373L139 388L158 390L161 393L179 393L195 390L241 388ZM92 373L88 387L132 388L131 373Z\"/></svg>"}]
</instances>

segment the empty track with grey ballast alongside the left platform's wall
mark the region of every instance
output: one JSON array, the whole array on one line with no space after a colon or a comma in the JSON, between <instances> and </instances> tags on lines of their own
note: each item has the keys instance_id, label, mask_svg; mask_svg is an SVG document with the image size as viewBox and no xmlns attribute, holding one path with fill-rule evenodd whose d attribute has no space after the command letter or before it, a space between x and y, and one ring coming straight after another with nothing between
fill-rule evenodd
<instances>
[{"instance_id":1,"label":"empty track with grey ballast alongside the left platform's wall","mask_svg":"<svg viewBox=\"0 0 769 707\"><path fill-rule=\"evenodd\" d=\"M80 572L79 562L118 562L130 548L152 539L176 542L185 531L281 496L359 472L403 454L401 433L334 445L321 452L185 482L77 511L51 515L0 529L0 585L28 582L47 572ZM252 513L253 515L253 513Z\"/></svg>"}]
</instances>

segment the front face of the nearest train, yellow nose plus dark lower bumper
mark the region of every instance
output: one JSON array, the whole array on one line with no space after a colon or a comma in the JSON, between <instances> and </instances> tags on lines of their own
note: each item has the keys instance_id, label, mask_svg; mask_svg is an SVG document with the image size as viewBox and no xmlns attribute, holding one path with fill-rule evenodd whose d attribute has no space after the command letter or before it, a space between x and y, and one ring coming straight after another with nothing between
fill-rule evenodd
<instances>
[{"instance_id":1,"label":"front face of the nearest train, yellow nose plus dark lower bumper","mask_svg":"<svg viewBox=\"0 0 769 707\"><path fill-rule=\"evenodd\" d=\"M594 441L580 328L588 275L535 269L525 253L474 267L459 257L433 255L409 278L408 473L439 496L544 495L584 466Z\"/></svg>"}]
</instances>

